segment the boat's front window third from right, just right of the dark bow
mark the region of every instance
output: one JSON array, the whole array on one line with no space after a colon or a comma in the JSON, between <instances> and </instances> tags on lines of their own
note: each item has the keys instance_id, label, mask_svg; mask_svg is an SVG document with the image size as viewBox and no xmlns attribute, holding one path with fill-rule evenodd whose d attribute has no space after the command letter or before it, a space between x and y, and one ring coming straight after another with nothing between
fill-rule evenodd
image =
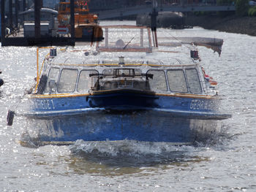
<instances>
[{"instance_id":1,"label":"boat's front window third from right, just right of the dark bow","mask_svg":"<svg viewBox=\"0 0 256 192\"><path fill-rule=\"evenodd\" d=\"M165 72L163 70L148 70L147 74L153 74L153 79L149 78L151 90L167 91Z\"/></svg>"}]
</instances>

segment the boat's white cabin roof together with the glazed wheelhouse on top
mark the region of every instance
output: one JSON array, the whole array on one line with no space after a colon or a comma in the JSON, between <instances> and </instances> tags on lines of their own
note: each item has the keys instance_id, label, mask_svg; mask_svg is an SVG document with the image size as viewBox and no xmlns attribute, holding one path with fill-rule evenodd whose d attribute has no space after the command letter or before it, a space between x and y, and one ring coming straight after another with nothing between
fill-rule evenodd
<instances>
[{"instance_id":1,"label":"boat's white cabin roof together with the glazed wheelhouse on top","mask_svg":"<svg viewBox=\"0 0 256 192\"><path fill-rule=\"evenodd\" d=\"M199 64L199 60L190 57L188 46L180 42L154 46L153 32L146 26L102 26L102 29L105 38L102 42L95 43L94 47L83 47L83 50L69 47L59 51L50 63L62 66L120 66L120 58L123 58L125 66L187 67Z\"/></svg>"}]
</instances>

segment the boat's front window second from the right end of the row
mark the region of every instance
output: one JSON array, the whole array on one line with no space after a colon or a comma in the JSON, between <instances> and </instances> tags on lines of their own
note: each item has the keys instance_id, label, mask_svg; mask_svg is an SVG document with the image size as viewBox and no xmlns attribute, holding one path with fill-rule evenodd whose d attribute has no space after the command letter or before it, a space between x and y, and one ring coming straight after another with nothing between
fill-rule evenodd
<instances>
[{"instance_id":1,"label":"boat's front window second from the right end of the row","mask_svg":"<svg viewBox=\"0 0 256 192\"><path fill-rule=\"evenodd\" d=\"M170 91L187 93L187 82L183 70L168 70Z\"/></svg>"}]
</instances>

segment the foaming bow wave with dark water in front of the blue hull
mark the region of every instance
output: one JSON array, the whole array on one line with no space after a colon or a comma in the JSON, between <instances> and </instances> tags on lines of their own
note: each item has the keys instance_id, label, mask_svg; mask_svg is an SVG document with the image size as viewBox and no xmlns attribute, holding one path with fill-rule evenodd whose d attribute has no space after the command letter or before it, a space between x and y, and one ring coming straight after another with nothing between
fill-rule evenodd
<instances>
[{"instance_id":1,"label":"foaming bow wave with dark water in front of the blue hull","mask_svg":"<svg viewBox=\"0 0 256 192\"><path fill-rule=\"evenodd\" d=\"M85 142L69 147L71 155L109 166L153 166L195 158L193 146L175 146L166 142L134 140Z\"/></svg>"}]
</instances>

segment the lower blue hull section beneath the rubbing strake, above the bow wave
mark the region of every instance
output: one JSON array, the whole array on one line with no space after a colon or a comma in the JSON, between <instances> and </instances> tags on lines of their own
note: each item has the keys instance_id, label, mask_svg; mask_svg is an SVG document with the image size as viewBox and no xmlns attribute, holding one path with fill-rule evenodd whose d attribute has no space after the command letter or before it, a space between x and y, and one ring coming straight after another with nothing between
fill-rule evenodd
<instances>
[{"instance_id":1,"label":"lower blue hull section beneath the rubbing strake, above the bow wave","mask_svg":"<svg viewBox=\"0 0 256 192\"><path fill-rule=\"evenodd\" d=\"M129 139L189 145L219 130L216 120L182 118L151 110L96 110L82 115L30 118L30 123L30 135L40 142Z\"/></svg>"}]
</instances>

